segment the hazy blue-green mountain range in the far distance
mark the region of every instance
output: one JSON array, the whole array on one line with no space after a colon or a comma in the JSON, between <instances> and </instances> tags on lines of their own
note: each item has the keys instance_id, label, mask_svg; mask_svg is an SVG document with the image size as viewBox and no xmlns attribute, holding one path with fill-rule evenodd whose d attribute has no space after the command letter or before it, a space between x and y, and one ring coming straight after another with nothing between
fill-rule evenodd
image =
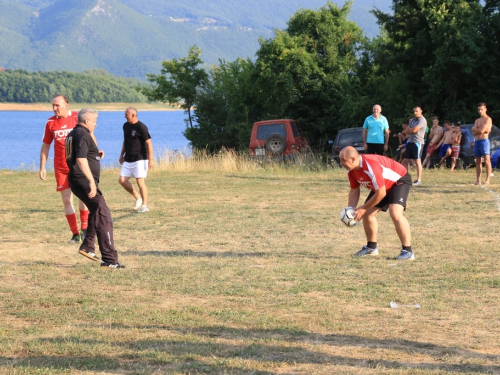
<instances>
[{"instance_id":1,"label":"hazy blue-green mountain range in the far distance","mask_svg":"<svg viewBox=\"0 0 500 375\"><path fill-rule=\"evenodd\" d=\"M340 3L340 2L336 2ZM351 17L365 33L378 33L375 6L391 0L356 0ZM105 69L144 79L161 61L187 56L196 44L217 63L254 58L258 38L300 8L326 0L0 0L0 67L29 71Z\"/></svg>"}]
</instances>

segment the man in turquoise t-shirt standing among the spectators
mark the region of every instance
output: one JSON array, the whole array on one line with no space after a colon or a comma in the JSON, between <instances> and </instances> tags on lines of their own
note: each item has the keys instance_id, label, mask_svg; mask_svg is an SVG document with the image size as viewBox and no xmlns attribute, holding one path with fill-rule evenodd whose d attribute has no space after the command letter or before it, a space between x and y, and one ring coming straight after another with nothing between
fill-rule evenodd
<instances>
[{"instance_id":1,"label":"man in turquoise t-shirt standing among the spectators","mask_svg":"<svg viewBox=\"0 0 500 375\"><path fill-rule=\"evenodd\" d=\"M389 123L382 116L382 107L373 106L373 115L363 124L363 147L367 154L384 155L389 144Z\"/></svg>"}]
</instances>

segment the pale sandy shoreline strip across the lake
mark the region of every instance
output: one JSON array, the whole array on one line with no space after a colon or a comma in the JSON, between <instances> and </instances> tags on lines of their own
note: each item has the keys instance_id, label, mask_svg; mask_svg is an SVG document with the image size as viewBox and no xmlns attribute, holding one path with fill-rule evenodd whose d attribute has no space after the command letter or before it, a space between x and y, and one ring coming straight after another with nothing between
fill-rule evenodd
<instances>
[{"instance_id":1,"label":"pale sandy shoreline strip across the lake","mask_svg":"<svg viewBox=\"0 0 500 375\"><path fill-rule=\"evenodd\" d=\"M125 111L127 107L134 107L138 111L180 111L180 108L163 103L70 103L71 110L92 108L96 111ZM52 112L50 103L0 103L0 111L20 112Z\"/></svg>"}]
</instances>

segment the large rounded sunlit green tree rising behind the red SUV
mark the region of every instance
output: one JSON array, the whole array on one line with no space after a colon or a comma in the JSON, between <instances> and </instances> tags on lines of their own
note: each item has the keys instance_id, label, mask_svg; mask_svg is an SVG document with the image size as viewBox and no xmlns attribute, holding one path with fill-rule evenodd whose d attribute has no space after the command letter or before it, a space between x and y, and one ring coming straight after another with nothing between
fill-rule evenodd
<instances>
[{"instance_id":1,"label":"large rounded sunlit green tree rising behind the red SUV","mask_svg":"<svg viewBox=\"0 0 500 375\"><path fill-rule=\"evenodd\" d=\"M298 119L314 146L322 146L335 129L352 120L354 104L345 101L356 79L362 30L347 19L351 3L332 2L317 11L295 13L285 30L261 40L257 85L268 117ZM344 116L345 117L342 117Z\"/></svg>"}]
</instances>

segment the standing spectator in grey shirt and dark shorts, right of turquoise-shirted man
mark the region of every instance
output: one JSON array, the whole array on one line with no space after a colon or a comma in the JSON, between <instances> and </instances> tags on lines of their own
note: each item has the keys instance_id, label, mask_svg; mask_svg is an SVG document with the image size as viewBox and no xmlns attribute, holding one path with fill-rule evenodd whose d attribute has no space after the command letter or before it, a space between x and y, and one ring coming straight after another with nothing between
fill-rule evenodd
<instances>
[{"instance_id":1,"label":"standing spectator in grey shirt and dark shorts, right of turquoise-shirted man","mask_svg":"<svg viewBox=\"0 0 500 375\"><path fill-rule=\"evenodd\" d=\"M413 114L415 117L408 124L408 128L405 130L406 134L409 135L408 143L406 144L405 156L403 159L403 165L408 169L410 160L415 162L417 167L417 179L413 182L414 185L422 184L422 151L424 147L424 135L427 129L427 120L422 115L422 108L416 106L413 108Z\"/></svg>"}]
</instances>

